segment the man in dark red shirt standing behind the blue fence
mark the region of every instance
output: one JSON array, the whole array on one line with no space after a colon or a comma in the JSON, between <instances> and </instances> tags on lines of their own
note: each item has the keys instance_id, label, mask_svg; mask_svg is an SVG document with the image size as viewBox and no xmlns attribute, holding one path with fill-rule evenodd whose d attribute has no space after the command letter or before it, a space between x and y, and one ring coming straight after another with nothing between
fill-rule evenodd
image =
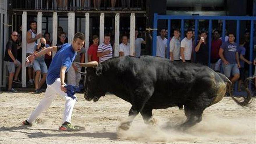
<instances>
[{"instance_id":1,"label":"man in dark red shirt standing behind the blue fence","mask_svg":"<svg viewBox=\"0 0 256 144\"><path fill-rule=\"evenodd\" d=\"M211 69L214 71L220 72L220 56L219 56L219 50L222 44L222 40L219 39L220 34L218 30L215 30L213 32L213 40L211 41Z\"/></svg>"}]
</instances>

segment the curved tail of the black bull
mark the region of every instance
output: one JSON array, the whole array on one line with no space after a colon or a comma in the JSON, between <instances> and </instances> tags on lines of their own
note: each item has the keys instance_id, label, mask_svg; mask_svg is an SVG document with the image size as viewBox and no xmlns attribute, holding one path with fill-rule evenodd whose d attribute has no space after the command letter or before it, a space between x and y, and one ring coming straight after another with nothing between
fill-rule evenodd
<instances>
[{"instance_id":1,"label":"curved tail of the black bull","mask_svg":"<svg viewBox=\"0 0 256 144\"><path fill-rule=\"evenodd\" d=\"M249 85L249 82L250 80L254 79L255 77L249 77L245 80L245 87L246 87L246 92L247 92L247 97L243 97L243 100L239 100L237 98L235 98L233 96L233 84L232 82L227 78L225 77L224 74L221 74L221 73L218 73L218 75L223 79L223 81L225 83L227 83L227 92L230 94L230 97L232 97L232 99L240 106L248 106L248 104L250 104L252 102L252 95L251 95L251 92L248 88L248 85Z\"/></svg>"}]
</instances>

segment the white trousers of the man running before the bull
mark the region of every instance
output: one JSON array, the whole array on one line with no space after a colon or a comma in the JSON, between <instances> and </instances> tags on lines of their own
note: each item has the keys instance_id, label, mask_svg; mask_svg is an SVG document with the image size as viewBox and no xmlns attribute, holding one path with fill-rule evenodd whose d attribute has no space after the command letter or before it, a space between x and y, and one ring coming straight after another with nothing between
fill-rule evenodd
<instances>
[{"instance_id":1,"label":"white trousers of the man running before the bull","mask_svg":"<svg viewBox=\"0 0 256 144\"><path fill-rule=\"evenodd\" d=\"M59 94L65 97L66 99L63 122L71 122L71 115L72 115L74 105L76 103L76 99L72 99L71 97L68 97L67 93L61 90L60 78L56 79L53 84L47 85L47 89L45 91L45 97L42 99L42 101L37 106L37 108L33 111L33 113L31 113L27 121L29 123L34 122L35 119L51 105L51 103L54 101L56 94Z\"/></svg>"}]
</instances>

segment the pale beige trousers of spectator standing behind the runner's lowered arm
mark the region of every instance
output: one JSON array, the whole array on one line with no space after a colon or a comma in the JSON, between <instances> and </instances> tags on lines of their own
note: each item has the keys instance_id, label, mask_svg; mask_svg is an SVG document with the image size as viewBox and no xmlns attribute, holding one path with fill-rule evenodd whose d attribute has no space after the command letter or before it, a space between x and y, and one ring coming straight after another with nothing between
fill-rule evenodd
<instances>
[{"instance_id":1,"label":"pale beige trousers of spectator standing behind the runner's lowered arm","mask_svg":"<svg viewBox=\"0 0 256 144\"><path fill-rule=\"evenodd\" d=\"M81 66L74 63L75 66L77 66L77 69L81 71ZM81 74L75 71L73 66L70 67L70 69L67 72L67 84L71 84L74 86L79 86L79 81L81 79Z\"/></svg>"}]
</instances>

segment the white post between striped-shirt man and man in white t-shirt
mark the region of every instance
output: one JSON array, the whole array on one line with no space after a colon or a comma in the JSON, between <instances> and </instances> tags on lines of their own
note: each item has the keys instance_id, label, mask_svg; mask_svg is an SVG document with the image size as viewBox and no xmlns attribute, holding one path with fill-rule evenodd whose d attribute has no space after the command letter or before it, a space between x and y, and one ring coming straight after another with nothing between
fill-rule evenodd
<instances>
[{"instance_id":1,"label":"white post between striped-shirt man and man in white t-shirt","mask_svg":"<svg viewBox=\"0 0 256 144\"><path fill-rule=\"evenodd\" d=\"M120 25L120 15L119 13L115 14L115 53L114 56L119 56L119 25Z\"/></svg>"}]
</instances>

